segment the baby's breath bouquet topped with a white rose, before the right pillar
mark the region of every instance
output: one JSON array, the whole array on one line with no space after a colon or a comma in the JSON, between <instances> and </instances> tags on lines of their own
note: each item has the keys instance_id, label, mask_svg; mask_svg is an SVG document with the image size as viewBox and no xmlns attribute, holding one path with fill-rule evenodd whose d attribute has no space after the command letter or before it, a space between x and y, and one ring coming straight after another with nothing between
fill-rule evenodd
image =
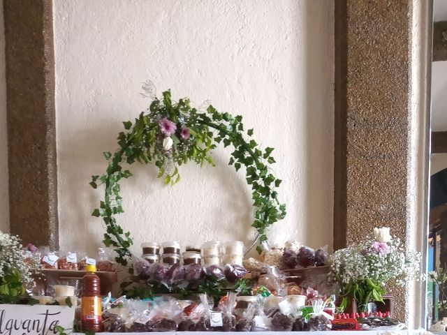
<instances>
[{"instance_id":1,"label":"baby's breath bouquet topped with a white rose, before the right pillar","mask_svg":"<svg viewBox=\"0 0 447 335\"><path fill-rule=\"evenodd\" d=\"M374 228L374 237L337 250L331 258L330 276L340 286L341 309L355 299L364 311L370 300L383 302L390 281L404 285L420 276L420 253L405 251L390 228Z\"/></svg>"}]
</instances>

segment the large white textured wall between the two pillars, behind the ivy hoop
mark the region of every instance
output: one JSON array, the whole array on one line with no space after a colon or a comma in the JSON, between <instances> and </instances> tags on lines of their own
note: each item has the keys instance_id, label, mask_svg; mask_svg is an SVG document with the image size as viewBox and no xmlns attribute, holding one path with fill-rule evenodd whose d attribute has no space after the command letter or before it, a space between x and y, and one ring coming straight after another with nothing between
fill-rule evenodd
<instances>
[{"instance_id":1,"label":"large white textured wall between the two pillars, behind the ivy hoop","mask_svg":"<svg viewBox=\"0 0 447 335\"><path fill-rule=\"evenodd\" d=\"M333 1L54 1L57 158L61 246L94 251L103 228L90 213L103 190L90 176L105 171L102 151L117 148L121 121L160 93L242 114L264 147L276 148L274 171L286 219L272 239L332 246ZM132 165L122 184L118 221L142 241L202 243L254 236L251 197L228 167L182 167L174 187L153 166Z\"/></svg>"}]
</instances>

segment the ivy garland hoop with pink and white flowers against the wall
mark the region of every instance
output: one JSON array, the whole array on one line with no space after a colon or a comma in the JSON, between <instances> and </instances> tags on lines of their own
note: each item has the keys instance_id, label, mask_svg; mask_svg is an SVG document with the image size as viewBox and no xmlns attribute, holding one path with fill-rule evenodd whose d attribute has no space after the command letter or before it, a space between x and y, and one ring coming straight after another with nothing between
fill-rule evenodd
<instances>
[{"instance_id":1,"label":"ivy garland hoop with pink and white flowers against the wall","mask_svg":"<svg viewBox=\"0 0 447 335\"><path fill-rule=\"evenodd\" d=\"M115 248L120 264L127 265L133 244L130 232L124 232L115 218L116 214L123 213L119 181L132 175L129 170L123 170L123 163L154 163L159 168L158 177L163 177L165 184L173 185L180 180L180 165L194 161L200 166L203 163L214 166L211 152L216 143L224 147L232 145L234 151L228 164L236 171L242 166L246 170L254 200L252 226L258 232L258 241L266 241L268 228L286 215L286 206L279 203L275 191L281 180L269 168L269 164L275 163L273 148L261 149L253 139L247 142L240 115L233 117L227 112L217 112L212 105L206 112L199 112L187 98L173 103L170 91L165 91L162 100L154 98L148 112L142 112L133 124L124 122L124 128L126 132L118 135L120 148L115 154L103 153L108 161L105 174L92 176L90 183L93 188L105 186L105 198L92 215L103 218L106 227L103 242ZM251 137L253 129L247 135ZM259 246L257 250L261 252Z\"/></svg>"}]
</instances>

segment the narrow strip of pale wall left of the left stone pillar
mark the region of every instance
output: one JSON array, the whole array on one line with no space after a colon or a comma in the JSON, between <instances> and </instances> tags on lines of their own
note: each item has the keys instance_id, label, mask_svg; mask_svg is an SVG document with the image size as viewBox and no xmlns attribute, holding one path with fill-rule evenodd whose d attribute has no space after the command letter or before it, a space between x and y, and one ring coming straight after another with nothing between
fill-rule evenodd
<instances>
[{"instance_id":1,"label":"narrow strip of pale wall left of the left stone pillar","mask_svg":"<svg viewBox=\"0 0 447 335\"><path fill-rule=\"evenodd\" d=\"M5 28L0 0L0 230L9 231L8 132L6 130Z\"/></svg>"}]
</instances>

